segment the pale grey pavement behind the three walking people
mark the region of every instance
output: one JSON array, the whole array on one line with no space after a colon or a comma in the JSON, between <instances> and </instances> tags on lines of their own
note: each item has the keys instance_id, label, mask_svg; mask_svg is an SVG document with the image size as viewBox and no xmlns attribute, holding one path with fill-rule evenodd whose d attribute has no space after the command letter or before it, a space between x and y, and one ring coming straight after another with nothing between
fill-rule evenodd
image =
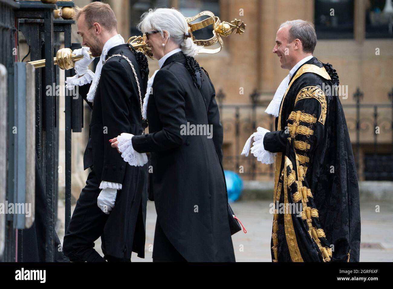
<instances>
[{"instance_id":1,"label":"pale grey pavement behind the three walking people","mask_svg":"<svg viewBox=\"0 0 393 289\"><path fill-rule=\"evenodd\" d=\"M72 206L73 211L75 206ZM271 262L270 236L273 216L269 213L269 201L239 201L231 203L237 217L246 227L232 236L236 261L238 262ZM64 237L64 201L59 201L59 228L57 234L62 243ZM360 204L362 234L360 244L361 262L391 262L393 261L393 202L364 201ZM135 253L132 262L151 262L156 224L154 202L147 202L146 245L145 258L141 259ZM101 239L95 241L95 250L103 256Z\"/></svg>"}]
</instances>

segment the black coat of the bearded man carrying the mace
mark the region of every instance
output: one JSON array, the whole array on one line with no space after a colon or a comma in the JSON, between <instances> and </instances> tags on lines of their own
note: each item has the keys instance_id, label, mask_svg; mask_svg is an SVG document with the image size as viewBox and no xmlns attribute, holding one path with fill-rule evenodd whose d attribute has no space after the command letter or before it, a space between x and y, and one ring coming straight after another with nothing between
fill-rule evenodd
<instances>
[{"instance_id":1,"label":"black coat of the bearded man carrying the mace","mask_svg":"<svg viewBox=\"0 0 393 289\"><path fill-rule=\"evenodd\" d=\"M108 51L107 59L114 54L125 55L134 65L143 98L147 80L142 80L136 52L131 51L128 44L121 44ZM89 88L90 85L79 87L79 94L85 100ZM130 64L121 57L109 59L101 70L94 105L86 102L93 111L84 169L91 167L95 171L98 184L101 181L122 184L103 232L106 252L117 258L129 258L134 251L144 258L147 166L130 166L109 142L121 133L139 135L143 132L140 97ZM135 206L141 206L141 216Z\"/></svg>"}]
</instances>

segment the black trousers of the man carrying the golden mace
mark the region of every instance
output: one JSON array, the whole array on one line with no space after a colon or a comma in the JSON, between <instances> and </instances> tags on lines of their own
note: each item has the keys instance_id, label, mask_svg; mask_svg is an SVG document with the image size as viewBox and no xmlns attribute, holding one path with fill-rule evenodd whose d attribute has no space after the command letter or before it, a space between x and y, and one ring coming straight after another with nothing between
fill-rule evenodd
<instances>
[{"instance_id":1,"label":"black trousers of the man carrying the golden mace","mask_svg":"<svg viewBox=\"0 0 393 289\"><path fill-rule=\"evenodd\" d=\"M109 217L97 206L100 192L99 180L96 179L94 170L92 170L86 180L86 186L81 191L64 236L64 255L72 262L105 262L105 260L130 262L129 259L115 258L105 254L105 241L102 237L101 249L104 252L104 258L94 250L94 241L103 233Z\"/></svg>"}]
</instances>

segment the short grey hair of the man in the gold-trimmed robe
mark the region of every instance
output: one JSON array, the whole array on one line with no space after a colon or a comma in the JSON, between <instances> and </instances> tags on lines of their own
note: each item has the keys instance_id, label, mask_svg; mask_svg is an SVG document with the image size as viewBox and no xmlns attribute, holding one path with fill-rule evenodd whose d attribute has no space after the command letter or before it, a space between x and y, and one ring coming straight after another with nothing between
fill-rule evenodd
<instances>
[{"instance_id":1,"label":"short grey hair of the man in the gold-trimmed robe","mask_svg":"<svg viewBox=\"0 0 393 289\"><path fill-rule=\"evenodd\" d=\"M312 22L301 19L288 20L282 23L279 29L285 26L291 26L289 29L289 42L300 39L303 45L303 52L314 52L314 48L317 45L317 35L315 33L315 26Z\"/></svg>"}]
</instances>

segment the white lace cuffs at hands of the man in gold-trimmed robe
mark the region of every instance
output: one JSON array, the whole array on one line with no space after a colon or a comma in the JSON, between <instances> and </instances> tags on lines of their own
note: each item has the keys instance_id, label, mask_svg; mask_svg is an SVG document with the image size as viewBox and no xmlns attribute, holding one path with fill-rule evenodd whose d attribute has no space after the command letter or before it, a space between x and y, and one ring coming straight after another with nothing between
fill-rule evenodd
<instances>
[{"instance_id":1,"label":"white lace cuffs at hands of the man in gold-trimmed robe","mask_svg":"<svg viewBox=\"0 0 393 289\"><path fill-rule=\"evenodd\" d=\"M275 154L266 151L263 147L263 138L266 133L270 133L270 131L263 127L258 127L257 131L248 138L241 154L248 156L248 151L250 151L251 148L251 153L257 157L259 162L267 165L273 164ZM252 138L254 138L254 142L252 143L253 147L251 147Z\"/></svg>"}]
</instances>

